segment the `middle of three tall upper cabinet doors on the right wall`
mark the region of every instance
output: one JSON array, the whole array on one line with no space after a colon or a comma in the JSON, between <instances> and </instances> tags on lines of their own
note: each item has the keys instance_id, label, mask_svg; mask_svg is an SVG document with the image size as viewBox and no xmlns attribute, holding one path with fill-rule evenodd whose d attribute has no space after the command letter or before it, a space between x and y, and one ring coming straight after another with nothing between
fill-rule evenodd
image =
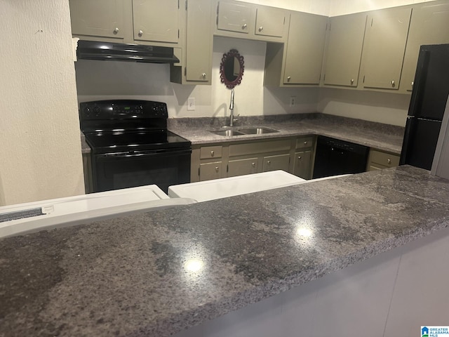
<instances>
[{"instance_id":1,"label":"middle of three tall upper cabinet doors on the right wall","mask_svg":"<svg viewBox=\"0 0 449 337\"><path fill-rule=\"evenodd\" d=\"M411 8L387 8L368 15L363 44L365 88L398 89L411 12Z\"/></svg>"}]
</instances>

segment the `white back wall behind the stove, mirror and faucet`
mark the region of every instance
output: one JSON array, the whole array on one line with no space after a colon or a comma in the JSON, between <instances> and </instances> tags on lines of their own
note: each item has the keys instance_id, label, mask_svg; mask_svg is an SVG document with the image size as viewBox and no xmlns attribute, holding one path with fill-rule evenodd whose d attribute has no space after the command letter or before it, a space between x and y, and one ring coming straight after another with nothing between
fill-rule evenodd
<instances>
[{"instance_id":1,"label":"white back wall behind the stove, mirror and faucet","mask_svg":"<svg viewBox=\"0 0 449 337\"><path fill-rule=\"evenodd\" d=\"M230 89L220 82L223 53L235 48L243 55L245 70L234 89L234 113L242 116L316 112L318 88L264 88L264 55L260 41L214 38L211 86L170 83L168 65L79 60L76 85L79 101L108 98L160 100L168 105L169 117L229 117ZM289 107L290 96L297 105ZM187 98L195 98L195 111L187 111Z\"/></svg>"}]
</instances>

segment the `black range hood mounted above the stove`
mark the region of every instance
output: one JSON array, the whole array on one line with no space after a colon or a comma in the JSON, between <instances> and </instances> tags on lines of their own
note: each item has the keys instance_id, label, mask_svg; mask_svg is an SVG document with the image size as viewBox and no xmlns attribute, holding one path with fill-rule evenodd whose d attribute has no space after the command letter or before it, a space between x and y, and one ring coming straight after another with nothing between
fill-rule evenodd
<instances>
[{"instance_id":1,"label":"black range hood mounted above the stove","mask_svg":"<svg viewBox=\"0 0 449 337\"><path fill-rule=\"evenodd\" d=\"M114 60L148 63L177 63L173 48L140 44L115 44L100 41L78 41L79 60Z\"/></svg>"}]
</instances>

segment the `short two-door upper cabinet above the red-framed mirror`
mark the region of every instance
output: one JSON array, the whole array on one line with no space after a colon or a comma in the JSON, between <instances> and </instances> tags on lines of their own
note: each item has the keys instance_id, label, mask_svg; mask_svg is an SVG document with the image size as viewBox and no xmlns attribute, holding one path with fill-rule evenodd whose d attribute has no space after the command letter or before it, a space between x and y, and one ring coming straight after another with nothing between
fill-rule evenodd
<instances>
[{"instance_id":1,"label":"short two-door upper cabinet above the red-framed mirror","mask_svg":"<svg viewBox=\"0 0 449 337\"><path fill-rule=\"evenodd\" d=\"M215 35L263 41L284 41L289 12L285 9L241 1L217 2Z\"/></svg>"}]
</instances>

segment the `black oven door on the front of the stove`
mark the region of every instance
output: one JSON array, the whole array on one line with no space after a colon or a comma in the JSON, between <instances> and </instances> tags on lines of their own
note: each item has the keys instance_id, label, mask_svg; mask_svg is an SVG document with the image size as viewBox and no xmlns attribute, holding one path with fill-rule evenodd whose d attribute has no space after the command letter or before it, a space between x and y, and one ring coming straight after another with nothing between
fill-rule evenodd
<instances>
[{"instance_id":1,"label":"black oven door on the front of the stove","mask_svg":"<svg viewBox=\"0 0 449 337\"><path fill-rule=\"evenodd\" d=\"M167 193L170 185L190 182L192 150L93 154L95 192L156 184Z\"/></svg>"}]
</instances>

